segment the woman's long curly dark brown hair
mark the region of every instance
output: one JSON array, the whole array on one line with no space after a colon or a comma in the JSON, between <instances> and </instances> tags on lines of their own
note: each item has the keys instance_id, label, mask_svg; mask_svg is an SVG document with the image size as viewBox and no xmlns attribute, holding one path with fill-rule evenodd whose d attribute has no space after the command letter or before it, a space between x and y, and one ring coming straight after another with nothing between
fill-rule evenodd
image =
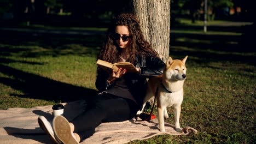
<instances>
[{"instance_id":1,"label":"woman's long curly dark brown hair","mask_svg":"<svg viewBox=\"0 0 256 144\"><path fill-rule=\"evenodd\" d=\"M130 33L130 49L127 49L129 53L129 59L127 61L134 63L136 55L139 56L158 56L158 53L152 49L152 46L144 38L144 35L139 25L138 18L133 14L120 14L113 19L112 25L109 27L106 35L105 42L98 55L98 59L115 63L120 59L120 48L115 44L115 40L112 39L111 35L115 32L115 27L127 26Z\"/></svg>"}]
</instances>

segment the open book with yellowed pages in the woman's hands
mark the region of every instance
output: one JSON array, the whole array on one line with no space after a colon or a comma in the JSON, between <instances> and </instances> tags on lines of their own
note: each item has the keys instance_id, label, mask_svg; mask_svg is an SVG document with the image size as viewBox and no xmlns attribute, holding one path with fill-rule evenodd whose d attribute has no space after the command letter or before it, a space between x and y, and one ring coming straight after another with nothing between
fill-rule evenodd
<instances>
[{"instance_id":1,"label":"open book with yellowed pages in the woman's hands","mask_svg":"<svg viewBox=\"0 0 256 144\"><path fill-rule=\"evenodd\" d=\"M106 61L102 61L101 59L98 59L96 62L99 68L103 70L114 70L115 72L118 71L119 68L126 69L126 73L138 73L135 66L130 62L118 62L118 63L109 63Z\"/></svg>"}]
</instances>

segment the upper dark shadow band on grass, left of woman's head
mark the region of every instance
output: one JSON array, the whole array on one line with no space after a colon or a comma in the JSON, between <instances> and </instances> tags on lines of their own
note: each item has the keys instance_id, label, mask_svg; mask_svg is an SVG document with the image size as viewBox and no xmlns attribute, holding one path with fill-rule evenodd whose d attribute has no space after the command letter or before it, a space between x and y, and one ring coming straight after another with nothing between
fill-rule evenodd
<instances>
[{"instance_id":1,"label":"upper dark shadow band on grass, left of woman's head","mask_svg":"<svg viewBox=\"0 0 256 144\"><path fill-rule=\"evenodd\" d=\"M36 34L13 31L0 31L0 33L0 56L96 56L103 43L103 35L95 34Z\"/></svg>"}]
</instances>

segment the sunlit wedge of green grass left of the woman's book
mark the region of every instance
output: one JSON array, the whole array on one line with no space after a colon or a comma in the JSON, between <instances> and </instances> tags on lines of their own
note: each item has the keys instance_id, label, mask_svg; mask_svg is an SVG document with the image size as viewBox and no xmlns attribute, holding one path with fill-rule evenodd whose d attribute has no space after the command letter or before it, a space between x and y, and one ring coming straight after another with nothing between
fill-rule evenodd
<instances>
[{"instance_id":1,"label":"sunlit wedge of green grass left of the woman's book","mask_svg":"<svg viewBox=\"0 0 256 144\"><path fill-rule=\"evenodd\" d=\"M14 57L10 57L9 59L12 58ZM18 62L8 64L8 66L28 73L49 77L56 81L95 89L96 57L67 55L60 57L22 58L16 60ZM20 63L21 61L22 63ZM29 62L42 64L31 65Z\"/></svg>"}]
</instances>

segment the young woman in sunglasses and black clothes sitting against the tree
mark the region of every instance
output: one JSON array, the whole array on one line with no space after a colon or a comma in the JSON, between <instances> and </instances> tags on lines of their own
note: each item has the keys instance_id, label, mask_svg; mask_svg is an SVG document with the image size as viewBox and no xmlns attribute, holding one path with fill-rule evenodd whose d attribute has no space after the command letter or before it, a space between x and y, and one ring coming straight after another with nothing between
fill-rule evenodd
<instances>
[{"instance_id":1,"label":"young woman in sunglasses and black clothes sitting against the tree","mask_svg":"<svg viewBox=\"0 0 256 144\"><path fill-rule=\"evenodd\" d=\"M126 121L136 116L147 89L146 78L161 75L165 65L144 38L138 19L132 14L121 14L114 19L98 59L131 62L138 73L128 73L122 68L117 73L98 68L95 84L99 93L90 102L92 106L71 122L63 116L54 118L51 139L56 143L79 143L94 134L102 122ZM49 134L45 121L39 125Z\"/></svg>"}]
</instances>

